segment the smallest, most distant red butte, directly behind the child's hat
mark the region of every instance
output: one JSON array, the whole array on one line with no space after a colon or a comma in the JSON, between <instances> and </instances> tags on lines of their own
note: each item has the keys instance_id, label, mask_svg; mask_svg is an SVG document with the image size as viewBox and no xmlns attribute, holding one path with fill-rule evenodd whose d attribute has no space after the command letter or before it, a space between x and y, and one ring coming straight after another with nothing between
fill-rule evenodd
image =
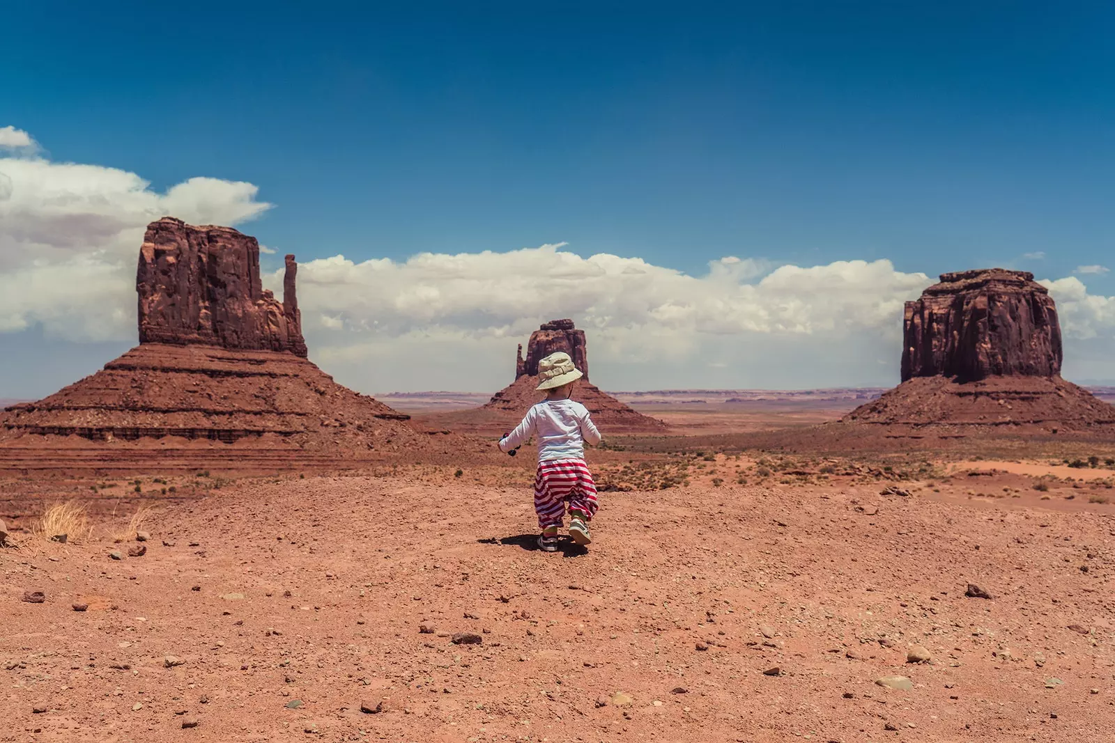
<instances>
[{"instance_id":1,"label":"smallest, most distant red butte, directly behind the child's hat","mask_svg":"<svg viewBox=\"0 0 1115 743\"><path fill-rule=\"evenodd\" d=\"M605 437L609 433L667 430L662 421L637 412L589 381L584 331L578 330L568 319L543 323L531 333L526 342L526 358L523 358L522 345L515 355L515 381L496 392L482 410L498 413L506 426L517 423L531 405L545 397L534 389L539 384L539 361L558 351L570 354L576 368L584 372L584 378L576 383L573 399L589 409L592 420Z\"/></svg>"}]
</instances>

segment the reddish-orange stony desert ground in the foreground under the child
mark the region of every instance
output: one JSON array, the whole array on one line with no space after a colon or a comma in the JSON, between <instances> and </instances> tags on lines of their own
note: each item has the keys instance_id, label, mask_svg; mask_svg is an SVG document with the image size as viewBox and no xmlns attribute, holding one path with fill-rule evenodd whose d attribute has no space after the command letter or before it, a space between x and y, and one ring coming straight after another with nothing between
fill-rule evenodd
<instances>
[{"instance_id":1,"label":"reddish-orange stony desert ground in the foreground under the child","mask_svg":"<svg viewBox=\"0 0 1115 743\"><path fill-rule=\"evenodd\" d=\"M13 532L0 741L1111 737L1098 497L695 475L544 554L526 470L388 475L224 483L143 542Z\"/></svg>"}]
</instances>

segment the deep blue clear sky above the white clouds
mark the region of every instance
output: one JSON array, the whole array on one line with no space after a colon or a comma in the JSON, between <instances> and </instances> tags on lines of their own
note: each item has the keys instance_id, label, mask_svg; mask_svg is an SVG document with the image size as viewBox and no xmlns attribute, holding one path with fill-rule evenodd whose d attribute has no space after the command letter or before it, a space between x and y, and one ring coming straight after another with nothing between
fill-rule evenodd
<instances>
[{"instance_id":1,"label":"deep blue clear sky above the white clouds","mask_svg":"<svg viewBox=\"0 0 1115 743\"><path fill-rule=\"evenodd\" d=\"M723 4L18 3L0 127L254 184L242 228L301 261L1109 262L1115 6Z\"/></svg>"}]
</instances>

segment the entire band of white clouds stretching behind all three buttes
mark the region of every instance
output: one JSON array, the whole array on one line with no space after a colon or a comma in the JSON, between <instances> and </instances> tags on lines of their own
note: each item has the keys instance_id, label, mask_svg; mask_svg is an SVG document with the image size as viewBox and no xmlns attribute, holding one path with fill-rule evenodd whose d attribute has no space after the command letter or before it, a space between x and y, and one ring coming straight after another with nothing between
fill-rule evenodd
<instances>
[{"instance_id":1,"label":"entire band of white clouds stretching behind all three buttes","mask_svg":"<svg viewBox=\"0 0 1115 743\"><path fill-rule=\"evenodd\" d=\"M207 177L159 193L134 173L54 162L30 134L0 128L0 344L35 333L75 350L134 342L147 223L169 214L237 226L271 208L258 196L251 183ZM306 261L299 300L311 354L362 391L497 389L515 344L570 316L589 333L593 380L613 389L889 384L902 303L932 283L886 260L726 256L695 276L563 247ZM280 274L266 283L281 291ZM1066 371L1115 377L1115 297L1089 294L1078 276L1043 283L1060 312Z\"/></svg>"}]
</instances>

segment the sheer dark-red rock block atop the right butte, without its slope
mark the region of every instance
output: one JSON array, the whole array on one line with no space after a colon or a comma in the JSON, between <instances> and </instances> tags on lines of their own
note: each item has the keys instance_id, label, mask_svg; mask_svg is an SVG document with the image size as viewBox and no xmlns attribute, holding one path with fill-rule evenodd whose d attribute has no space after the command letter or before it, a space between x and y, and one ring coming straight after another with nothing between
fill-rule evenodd
<instances>
[{"instance_id":1,"label":"sheer dark-red rock block atop the right butte, without its slope","mask_svg":"<svg viewBox=\"0 0 1115 743\"><path fill-rule=\"evenodd\" d=\"M948 377L1058 377L1060 324L1049 291L1025 271L941 274L905 303L902 381Z\"/></svg>"}]
</instances>

